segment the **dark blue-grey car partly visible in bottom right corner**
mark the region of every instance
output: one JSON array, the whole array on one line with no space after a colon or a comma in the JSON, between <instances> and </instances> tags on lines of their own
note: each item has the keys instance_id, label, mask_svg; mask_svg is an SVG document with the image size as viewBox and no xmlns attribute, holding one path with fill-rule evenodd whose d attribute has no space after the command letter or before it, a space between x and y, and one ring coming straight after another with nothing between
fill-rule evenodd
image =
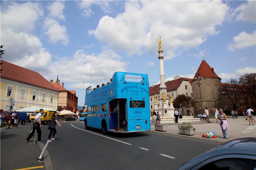
<instances>
[{"instance_id":1,"label":"dark blue-grey car partly visible in bottom right corner","mask_svg":"<svg viewBox=\"0 0 256 170\"><path fill-rule=\"evenodd\" d=\"M256 137L230 140L182 164L183 169L256 169Z\"/></svg>"}]
</instances>

